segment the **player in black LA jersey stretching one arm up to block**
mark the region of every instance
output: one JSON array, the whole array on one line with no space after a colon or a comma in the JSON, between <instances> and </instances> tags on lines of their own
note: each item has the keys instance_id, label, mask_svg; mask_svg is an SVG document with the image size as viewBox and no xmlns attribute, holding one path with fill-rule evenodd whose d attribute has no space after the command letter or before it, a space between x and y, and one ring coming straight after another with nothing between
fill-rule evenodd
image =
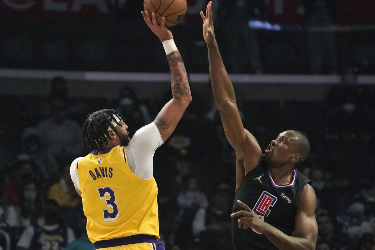
<instances>
[{"instance_id":1,"label":"player in black LA jersey stretching one arm up to block","mask_svg":"<svg viewBox=\"0 0 375 250\"><path fill-rule=\"evenodd\" d=\"M287 130L262 154L257 140L243 127L215 40L211 2L201 16L214 99L225 135L237 153L231 214L234 249L314 250L318 234L316 196L310 180L296 169L309 154L309 141L302 133Z\"/></svg>"}]
</instances>

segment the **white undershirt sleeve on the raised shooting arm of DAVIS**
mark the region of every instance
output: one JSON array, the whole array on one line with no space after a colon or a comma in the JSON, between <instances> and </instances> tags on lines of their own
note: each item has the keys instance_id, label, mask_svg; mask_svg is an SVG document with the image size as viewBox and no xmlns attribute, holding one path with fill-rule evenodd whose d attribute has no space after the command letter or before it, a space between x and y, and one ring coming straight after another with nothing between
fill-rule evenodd
<instances>
[{"instance_id":1,"label":"white undershirt sleeve on the raised shooting arm of DAVIS","mask_svg":"<svg viewBox=\"0 0 375 250\"><path fill-rule=\"evenodd\" d=\"M126 155L129 168L136 176L145 180L152 178L154 153L163 143L155 123L147 124L135 132L126 147Z\"/></svg>"}]
</instances>

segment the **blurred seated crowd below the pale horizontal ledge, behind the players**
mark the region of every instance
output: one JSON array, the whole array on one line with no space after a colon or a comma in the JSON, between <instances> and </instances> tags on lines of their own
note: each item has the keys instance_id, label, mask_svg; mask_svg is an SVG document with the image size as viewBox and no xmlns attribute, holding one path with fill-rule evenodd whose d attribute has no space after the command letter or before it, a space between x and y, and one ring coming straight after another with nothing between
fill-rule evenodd
<instances>
[{"instance_id":1,"label":"blurred seated crowd below the pale horizontal ledge, behind the players","mask_svg":"<svg viewBox=\"0 0 375 250\"><path fill-rule=\"evenodd\" d=\"M236 153L228 144L210 94L193 102L154 156L160 237L171 250L232 249L231 207ZM113 99L69 97L66 80L51 81L47 96L1 96L0 249L92 249L80 196L69 168L89 151L80 137L86 115L114 108L130 137L171 98L140 100L129 86ZM238 103L245 128L261 148L279 132L297 129L311 141L299 170L317 194L317 250L374 250L375 91L335 85L321 102ZM40 237L40 235L54 237ZM57 237L57 236L58 237Z\"/></svg>"}]
</instances>

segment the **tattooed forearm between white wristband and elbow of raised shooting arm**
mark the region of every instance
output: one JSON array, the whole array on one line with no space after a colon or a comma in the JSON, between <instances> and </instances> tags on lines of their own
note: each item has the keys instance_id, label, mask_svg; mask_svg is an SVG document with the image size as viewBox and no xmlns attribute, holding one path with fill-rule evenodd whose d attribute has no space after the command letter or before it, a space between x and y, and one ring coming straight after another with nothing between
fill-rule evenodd
<instances>
[{"instance_id":1,"label":"tattooed forearm between white wristband and elbow of raised shooting arm","mask_svg":"<svg viewBox=\"0 0 375 250\"><path fill-rule=\"evenodd\" d=\"M174 99L181 100L184 95L189 94L189 80L182 61L181 54L173 51L167 55L169 68L171 69L172 95Z\"/></svg>"}]
</instances>

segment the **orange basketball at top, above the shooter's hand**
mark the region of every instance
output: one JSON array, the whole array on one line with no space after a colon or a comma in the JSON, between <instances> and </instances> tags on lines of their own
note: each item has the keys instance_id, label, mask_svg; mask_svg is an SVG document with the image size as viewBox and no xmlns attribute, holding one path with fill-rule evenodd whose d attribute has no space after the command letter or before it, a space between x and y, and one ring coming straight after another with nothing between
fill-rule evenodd
<instances>
[{"instance_id":1,"label":"orange basketball at top, above the shooter's hand","mask_svg":"<svg viewBox=\"0 0 375 250\"><path fill-rule=\"evenodd\" d=\"M144 0L144 11L155 12L158 24L165 17L165 27L172 27L181 21L186 13L186 0Z\"/></svg>"}]
</instances>

